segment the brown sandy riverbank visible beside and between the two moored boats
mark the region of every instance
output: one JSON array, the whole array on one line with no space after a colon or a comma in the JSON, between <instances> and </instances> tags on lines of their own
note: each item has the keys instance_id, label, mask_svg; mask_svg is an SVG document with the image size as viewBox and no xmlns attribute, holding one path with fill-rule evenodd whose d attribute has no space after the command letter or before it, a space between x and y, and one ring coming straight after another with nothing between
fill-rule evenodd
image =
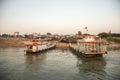
<instances>
[{"instance_id":1,"label":"brown sandy riverbank visible beside and between the two moored boats","mask_svg":"<svg viewBox=\"0 0 120 80\"><path fill-rule=\"evenodd\" d=\"M25 38L0 38L0 47L24 47ZM56 48L68 49L69 43L62 43L59 41L51 41L56 44ZM108 50L119 50L120 44L109 42Z\"/></svg>"}]
</instances>

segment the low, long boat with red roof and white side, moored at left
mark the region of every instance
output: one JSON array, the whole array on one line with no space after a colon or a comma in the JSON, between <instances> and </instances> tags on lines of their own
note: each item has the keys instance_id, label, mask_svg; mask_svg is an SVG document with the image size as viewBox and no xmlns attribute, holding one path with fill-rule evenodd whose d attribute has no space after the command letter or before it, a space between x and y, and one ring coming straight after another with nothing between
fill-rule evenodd
<instances>
[{"instance_id":1,"label":"low, long boat with red roof and white side, moored at left","mask_svg":"<svg viewBox=\"0 0 120 80\"><path fill-rule=\"evenodd\" d=\"M24 45L26 46L25 49L26 53L43 52L55 47L55 44L52 44L50 42L39 42L39 41L26 41Z\"/></svg>"}]
</instances>

